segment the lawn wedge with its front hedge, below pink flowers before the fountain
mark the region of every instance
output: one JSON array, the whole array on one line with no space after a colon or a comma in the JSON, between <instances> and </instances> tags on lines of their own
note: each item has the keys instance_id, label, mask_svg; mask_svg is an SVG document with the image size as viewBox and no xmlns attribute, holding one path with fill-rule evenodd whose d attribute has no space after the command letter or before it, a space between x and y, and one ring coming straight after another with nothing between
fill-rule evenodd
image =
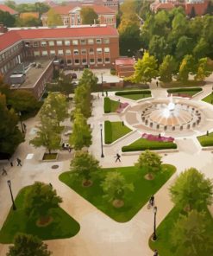
<instances>
[{"instance_id":1,"label":"lawn wedge with its front hedge, below pink flowers before the fountain","mask_svg":"<svg viewBox=\"0 0 213 256\"><path fill-rule=\"evenodd\" d=\"M147 140L146 138L139 138L134 143L122 147L122 152L166 149L177 149L177 144L172 142L160 142Z\"/></svg>"}]
</instances>

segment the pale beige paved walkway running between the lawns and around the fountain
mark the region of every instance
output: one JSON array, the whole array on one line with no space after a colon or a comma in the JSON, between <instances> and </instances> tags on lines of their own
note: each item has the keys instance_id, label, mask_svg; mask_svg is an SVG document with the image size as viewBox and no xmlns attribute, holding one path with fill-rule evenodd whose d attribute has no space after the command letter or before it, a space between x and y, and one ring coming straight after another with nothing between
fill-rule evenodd
<instances>
[{"instance_id":1,"label":"pale beige paved walkway running between the lawns and around the fountain","mask_svg":"<svg viewBox=\"0 0 213 256\"><path fill-rule=\"evenodd\" d=\"M211 81L211 80L210 80ZM165 97L166 90L156 88L154 83L152 85L152 93L154 97ZM197 95L197 99L204 98L206 94L210 93L211 85L204 86L204 92ZM115 97L114 93L109 93L110 96ZM127 101L127 100L125 100ZM132 102L131 102L132 104ZM93 144L91 145L91 152L97 157L103 167L114 166L131 166L138 156L123 156L122 163L115 163L115 153L121 147L121 141L115 144L115 148L104 148L105 157L100 157L100 127L99 123L106 119L118 120L115 115L103 115L103 98L95 99L93 101L93 113L89 122L92 127ZM79 233L71 238L65 240L49 240L47 244L49 249L53 251L53 255L58 256L151 256L152 251L147 245L148 238L153 233L153 212L147 210L147 206L141 208L135 217L127 223L117 223L111 220L107 215L103 214L90 202L87 202L80 195L69 189L64 183L60 182L58 176L65 170L69 170L70 159L72 154L63 152L60 159L56 163L40 163L41 149L34 149L32 145L28 144L31 138L34 138L34 127L37 124L37 118L30 118L26 121L28 132L25 143L21 144L16 150L14 158L20 157L22 159L22 167L9 167L8 176L1 176L0 178L0 228L6 219L11 206L9 189L7 187L7 180L12 182L12 189L14 195L18 193L22 187L33 183L34 181L51 182L53 187L57 189L58 195L63 198L61 207L71 214L79 223ZM68 124L68 123L67 123ZM136 133L135 133L136 134ZM135 135L131 135L130 140L134 140ZM134 138L133 138L134 137ZM127 143L127 138L122 142ZM172 209L172 202L168 194L168 188L171 186L174 179L179 173L191 166L196 167L205 173L206 176L213 178L213 154L211 151L201 150L194 138L179 138L178 153L169 153L162 155L164 163L172 163L177 166L177 173L166 182L166 184L157 192L155 200L158 206L157 224L162 221L166 214ZM33 153L32 160L26 160L28 153ZM51 166L59 164L58 170L53 170ZM0 166L2 167L2 165ZM213 207L210 208L213 212ZM0 255L6 255L8 250L7 245L0 244Z\"/></svg>"}]
</instances>

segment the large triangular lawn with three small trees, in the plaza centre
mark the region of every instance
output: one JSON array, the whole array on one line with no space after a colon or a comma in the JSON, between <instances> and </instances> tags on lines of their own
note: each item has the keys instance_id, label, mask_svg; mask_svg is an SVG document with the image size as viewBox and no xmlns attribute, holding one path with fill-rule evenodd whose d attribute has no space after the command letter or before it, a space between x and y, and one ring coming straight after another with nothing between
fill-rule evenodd
<instances>
[{"instance_id":1,"label":"large triangular lawn with three small trees, in the plaza centre","mask_svg":"<svg viewBox=\"0 0 213 256\"><path fill-rule=\"evenodd\" d=\"M81 180L71 172L67 171L60 175L60 181L65 182L67 186L74 189L79 195L83 196L87 201L91 202L95 207L103 211L115 221L126 222L130 221L135 214L147 203L151 195L154 195L160 187L172 176L175 172L175 167L169 164L164 164L162 171L155 176L152 181L144 178L147 174L146 170L138 170L135 166L122 168L102 169L97 174L93 174L91 187L85 188L81 185ZM110 202L103 198L103 189L101 182L106 174L110 171L120 172L127 182L132 182L135 190L129 193L124 200L122 208L114 208Z\"/></svg>"}]
</instances>

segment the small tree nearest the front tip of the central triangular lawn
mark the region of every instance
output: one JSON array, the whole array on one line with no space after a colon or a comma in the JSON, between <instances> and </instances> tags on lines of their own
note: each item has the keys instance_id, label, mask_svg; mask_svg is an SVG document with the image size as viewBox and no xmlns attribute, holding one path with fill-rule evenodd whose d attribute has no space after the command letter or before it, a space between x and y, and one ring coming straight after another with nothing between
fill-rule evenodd
<instances>
[{"instance_id":1,"label":"small tree nearest the front tip of the central triangular lawn","mask_svg":"<svg viewBox=\"0 0 213 256\"><path fill-rule=\"evenodd\" d=\"M128 192L134 191L134 185L127 183L124 176L118 171L107 173L101 187L105 193L103 197L112 202L116 208L123 206L124 197Z\"/></svg>"}]
</instances>

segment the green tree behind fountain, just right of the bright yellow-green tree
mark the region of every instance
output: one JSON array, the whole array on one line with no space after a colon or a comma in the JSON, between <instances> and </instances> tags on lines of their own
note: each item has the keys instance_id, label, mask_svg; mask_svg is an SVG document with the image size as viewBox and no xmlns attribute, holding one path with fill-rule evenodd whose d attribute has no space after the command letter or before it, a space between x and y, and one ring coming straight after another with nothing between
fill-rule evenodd
<instances>
[{"instance_id":1,"label":"green tree behind fountain, just right of the bright yellow-green tree","mask_svg":"<svg viewBox=\"0 0 213 256\"><path fill-rule=\"evenodd\" d=\"M160 81L162 82L171 82L172 81L172 74L176 70L176 62L171 55L166 55L163 62L160 64L159 74L160 74Z\"/></svg>"}]
</instances>

